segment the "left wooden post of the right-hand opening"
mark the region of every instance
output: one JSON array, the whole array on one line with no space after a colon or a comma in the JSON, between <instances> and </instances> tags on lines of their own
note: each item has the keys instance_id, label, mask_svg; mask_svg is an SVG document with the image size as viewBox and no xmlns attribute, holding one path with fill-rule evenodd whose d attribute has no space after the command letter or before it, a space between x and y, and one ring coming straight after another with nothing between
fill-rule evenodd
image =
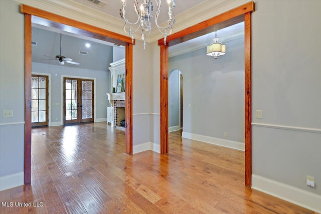
<instances>
[{"instance_id":1,"label":"left wooden post of the right-hand opening","mask_svg":"<svg viewBox=\"0 0 321 214\"><path fill-rule=\"evenodd\" d=\"M161 154L169 153L169 45L161 45Z\"/></svg>"}]
</instances>

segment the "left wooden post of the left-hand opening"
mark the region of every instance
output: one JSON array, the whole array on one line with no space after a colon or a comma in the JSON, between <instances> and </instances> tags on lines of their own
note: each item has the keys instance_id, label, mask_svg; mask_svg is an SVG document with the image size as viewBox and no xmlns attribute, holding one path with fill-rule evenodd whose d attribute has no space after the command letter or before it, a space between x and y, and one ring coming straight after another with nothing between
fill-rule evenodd
<instances>
[{"instance_id":1,"label":"left wooden post of the left-hand opening","mask_svg":"<svg viewBox=\"0 0 321 214\"><path fill-rule=\"evenodd\" d=\"M31 182L31 50L31 15L25 14L25 184Z\"/></svg>"}]
</instances>

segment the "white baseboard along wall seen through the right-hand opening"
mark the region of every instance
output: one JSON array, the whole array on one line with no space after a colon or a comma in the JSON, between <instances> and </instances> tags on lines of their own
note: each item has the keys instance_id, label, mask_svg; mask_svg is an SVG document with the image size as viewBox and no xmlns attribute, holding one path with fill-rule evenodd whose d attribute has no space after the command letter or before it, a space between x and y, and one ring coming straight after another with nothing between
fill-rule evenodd
<instances>
[{"instance_id":1,"label":"white baseboard along wall seen through the right-hand opening","mask_svg":"<svg viewBox=\"0 0 321 214\"><path fill-rule=\"evenodd\" d=\"M182 132L182 137L183 138L188 138L192 140L197 140L205 143L210 143L214 145L219 145L219 146L224 146L232 149L237 149L241 151L245 151L245 144L237 141L232 141L232 140L225 140L221 138L216 138L216 137L209 137L205 135L200 135L200 134L193 134L189 132Z\"/></svg>"}]
</instances>

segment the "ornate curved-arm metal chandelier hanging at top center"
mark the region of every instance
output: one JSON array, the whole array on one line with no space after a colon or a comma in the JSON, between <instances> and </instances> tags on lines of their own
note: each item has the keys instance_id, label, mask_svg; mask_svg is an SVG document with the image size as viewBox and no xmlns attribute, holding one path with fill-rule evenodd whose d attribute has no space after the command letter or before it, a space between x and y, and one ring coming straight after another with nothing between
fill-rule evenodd
<instances>
[{"instance_id":1,"label":"ornate curved-arm metal chandelier hanging at top center","mask_svg":"<svg viewBox=\"0 0 321 214\"><path fill-rule=\"evenodd\" d=\"M164 43L166 45L166 38L168 35L172 33L172 28L173 25L175 24L175 16L172 13L172 9L175 8L176 6L176 0L167 0L168 3L168 16L169 19L167 21L167 26L166 27L161 27L158 25L158 16L159 12L161 11L161 0L154 0L157 5L157 10L155 13L155 24L159 32L161 32L164 35ZM151 12L153 11L153 6L152 6L152 0L144 0L144 3L138 6L138 0L134 0L134 9L137 15L137 21L135 23L130 23L125 17L125 6L126 6L126 0L121 0L121 8L119 9L120 11L120 17L125 21L124 25L124 31L126 34L129 34L129 37L131 37L132 42L134 42L134 36L133 34L138 31L138 29L141 27L142 32L141 32L141 39L144 41L144 49L146 46L146 32L151 31L151 21L153 19L153 16ZM128 28L128 26L129 28ZM131 27L134 26L136 29L131 29ZM169 31L169 32L168 32Z\"/></svg>"}]
</instances>

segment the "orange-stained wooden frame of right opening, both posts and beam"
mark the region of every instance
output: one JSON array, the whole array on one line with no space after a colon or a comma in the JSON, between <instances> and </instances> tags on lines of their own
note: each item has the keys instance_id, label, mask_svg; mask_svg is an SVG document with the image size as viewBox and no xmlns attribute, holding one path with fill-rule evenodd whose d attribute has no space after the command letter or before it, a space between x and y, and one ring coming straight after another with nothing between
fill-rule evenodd
<instances>
[{"instance_id":1,"label":"orange-stained wooden frame of right opening, both posts and beam","mask_svg":"<svg viewBox=\"0 0 321 214\"><path fill-rule=\"evenodd\" d=\"M169 152L168 118L168 77L169 46L173 46L196 37L244 22L244 60L245 60L245 186L251 187L252 149L251 149L251 13L255 10L254 2L247 3L231 11L213 17L178 33L158 40L161 46L161 154Z\"/></svg>"}]
</instances>

